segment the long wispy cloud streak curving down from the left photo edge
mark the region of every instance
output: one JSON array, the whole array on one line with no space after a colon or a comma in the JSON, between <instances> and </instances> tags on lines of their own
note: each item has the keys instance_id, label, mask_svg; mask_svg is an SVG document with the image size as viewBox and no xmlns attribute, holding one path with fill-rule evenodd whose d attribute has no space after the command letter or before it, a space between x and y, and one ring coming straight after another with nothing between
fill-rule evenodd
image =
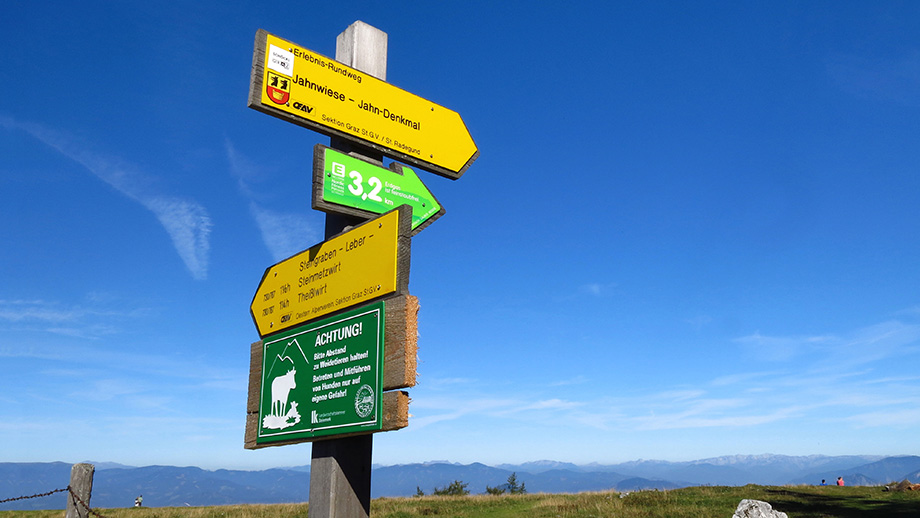
<instances>
[{"instance_id":1,"label":"long wispy cloud streak curving down from the left photo edge","mask_svg":"<svg viewBox=\"0 0 920 518\"><path fill-rule=\"evenodd\" d=\"M151 211L169 234L192 277L207 278L212 223L204 207L192 200L156 192L153 179L136 166L117 157L89 151L64 132L4 116L0 116L0 127L26 132Z\"/></svg>"}]
</instances>

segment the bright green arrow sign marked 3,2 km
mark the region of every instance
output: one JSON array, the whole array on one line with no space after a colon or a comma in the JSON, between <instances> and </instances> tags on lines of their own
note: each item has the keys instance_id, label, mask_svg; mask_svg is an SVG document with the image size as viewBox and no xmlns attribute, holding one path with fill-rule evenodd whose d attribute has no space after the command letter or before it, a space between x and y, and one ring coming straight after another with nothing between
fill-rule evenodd
<instances>
[{"instance_id":1,"label":"bright green arrow sign marked 3,2 km","mask_svg":"<svg viewBox=\"0 0 920 518\"><path fill-rule=\"evenodd\" d=\"M374 217L408 204L412 235L445 212L415 171L402 164L387 169L322 144L313 153L314 209Z\"/></svg>"}]
</instances>

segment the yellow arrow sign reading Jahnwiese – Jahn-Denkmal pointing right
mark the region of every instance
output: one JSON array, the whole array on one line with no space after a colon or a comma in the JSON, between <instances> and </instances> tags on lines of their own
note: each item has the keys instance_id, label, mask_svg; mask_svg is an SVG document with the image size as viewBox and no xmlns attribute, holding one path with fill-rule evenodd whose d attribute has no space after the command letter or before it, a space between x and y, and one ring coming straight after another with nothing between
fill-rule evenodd
<instances>
[{"instance_id":1,"label":"yellow arrow sign reading Jahnwiese \u2013 Jahn-Denkmal pointing right","mask_svg":"<svg viewBox=\"0 0 920 518\"><path fill-rule=\"evenodd\" d=\"M479 156L457 112L262 29L249 106L451 179Z\"/></svg>"}]
</instances>

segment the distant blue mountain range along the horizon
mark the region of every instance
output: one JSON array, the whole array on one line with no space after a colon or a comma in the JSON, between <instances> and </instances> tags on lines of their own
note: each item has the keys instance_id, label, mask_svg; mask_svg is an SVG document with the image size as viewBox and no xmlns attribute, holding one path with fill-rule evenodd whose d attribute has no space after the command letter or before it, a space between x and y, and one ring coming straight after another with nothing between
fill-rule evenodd
<instances>
[{"instance_id":1,"label":"distant blue mountain range along the horizon","mask_svg":"<svg viewBox=\"0 0 920 518\"><path fill-rule=\"evenodd\" d=\"M145 506L182 507L304 502L310 494L309 466L208 471L196 467L91 464L96 466L96 473L90 503L100 508L130 507L138 495L144 495ZM70 468L70 464L63 462L0 463L0 500L67 487ZM819 484L822 479L833 484L841 476L848 485L883 485L920 479L920 456L740 455L691 462L638 460L612 465L554 461L498 466L428 462L375 466L371 491L374 498L412 496L419 489L431 494L435 487L446 487L459 480L467 484L470 492L484 493L486 486L500 486L512 473L517 474L518 483L523 483L531 493ZM63 509L64 502L63 494L57 493L0 504L0 511Z\"/></svg>"}]
</instances>

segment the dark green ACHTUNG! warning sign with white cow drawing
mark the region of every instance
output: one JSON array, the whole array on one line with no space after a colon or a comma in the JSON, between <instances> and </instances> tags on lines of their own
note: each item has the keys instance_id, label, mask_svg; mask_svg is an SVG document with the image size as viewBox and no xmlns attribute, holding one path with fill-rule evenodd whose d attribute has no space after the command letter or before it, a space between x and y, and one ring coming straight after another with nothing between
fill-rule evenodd
<instances>
[{"instance_id":1,"label":"dark green ACHTUNG! warning sign with white cow drawing","mask_svg":"<svg viewBox=\"0 0 920 518\"><path fill-rule=\"evenodd\" d=\"M382 428L384 303L266 339L257 444Z\"/></svg>"}]
</instances>

